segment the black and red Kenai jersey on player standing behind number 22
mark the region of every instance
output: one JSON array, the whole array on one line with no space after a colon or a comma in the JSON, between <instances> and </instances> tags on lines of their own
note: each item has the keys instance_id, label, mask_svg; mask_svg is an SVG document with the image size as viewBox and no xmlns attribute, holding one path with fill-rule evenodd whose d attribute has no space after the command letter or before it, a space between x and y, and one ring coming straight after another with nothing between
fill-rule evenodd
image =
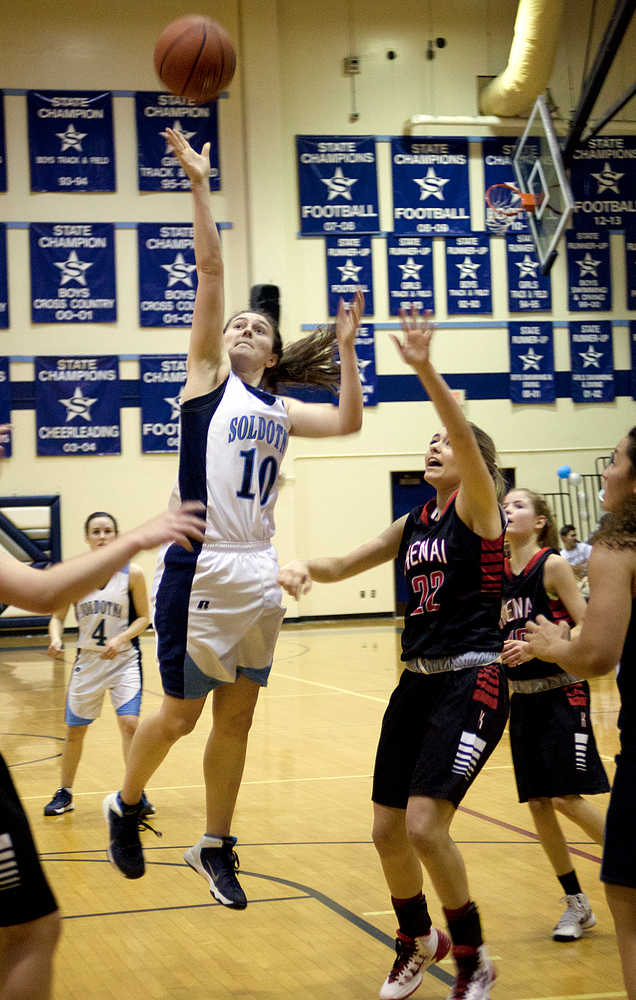
<instances>
[{"instance_id":1,"label":"black and red Kenai jersey on player standing behind number 22","mask_svg":"<svg viewBox=\"0 0 636 1000\"><path fill-rule=\"evenodd\" d=\"M514 574L510 560L504 561L504 592L501 610L501 629L504 639L519 639L526 636L526 622L545 615L548 621L566 621L570 628L574 622L558 597L550 597L543 583L545 564L551 555L558 555L555 549L545 548L536 552L521 573ZM528 660L518 667L506 667L511 680L535 680L538 677L553 677L563 674L556 663L544 660Z\"/></svg>"}]
</instances>

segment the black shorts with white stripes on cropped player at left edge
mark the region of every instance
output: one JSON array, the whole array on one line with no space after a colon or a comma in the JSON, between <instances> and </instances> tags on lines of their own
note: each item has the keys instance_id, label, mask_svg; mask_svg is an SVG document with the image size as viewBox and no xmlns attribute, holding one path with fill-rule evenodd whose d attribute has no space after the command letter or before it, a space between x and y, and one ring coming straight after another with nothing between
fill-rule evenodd
<instances>
[{"instance_id":1,"label":"black shorts with white stripes on cropped player at left edge","mask_svg":"<svg viewBox=\"0 0 636 1000\"><path fill-rule=\"evenodd\" d=\"M29 821L0 754L0 927L25 924L57 910Z\"/></svg>"}]
</instances>

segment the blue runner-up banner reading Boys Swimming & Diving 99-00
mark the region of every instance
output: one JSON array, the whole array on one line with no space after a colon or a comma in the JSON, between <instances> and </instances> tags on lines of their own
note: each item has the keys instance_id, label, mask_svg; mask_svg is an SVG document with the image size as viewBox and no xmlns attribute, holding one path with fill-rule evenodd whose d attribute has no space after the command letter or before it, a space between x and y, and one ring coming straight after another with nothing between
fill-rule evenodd
<instances>
[{"instance_id":1,"label":"blue runner-up banner reading Boys Swimming & Diving 99-00","mask_svg":"<svg viewBox=\"0 0 636 1000\"><path fill-rule=\"evenodd\" d=\"M612 308L612 277L607 235L597 230L566 234L568 260L568 309L583 312Z\"/></svg>"}]
</instances>

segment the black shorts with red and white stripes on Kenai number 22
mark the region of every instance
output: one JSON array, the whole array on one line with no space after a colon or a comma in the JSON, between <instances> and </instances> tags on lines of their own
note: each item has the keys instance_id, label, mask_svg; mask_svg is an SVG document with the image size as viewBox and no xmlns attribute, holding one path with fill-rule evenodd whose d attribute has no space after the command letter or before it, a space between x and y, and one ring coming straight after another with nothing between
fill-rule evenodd
<instances>
[{"instance_id":1,"label":"black shorts with red and white stripes on Kenai number 22","mask_svg":"<svg viewBox=\"0 0 636 1000\"><path fill-rule=\"evenodd\" d=\"M402 673L382 720L373 801L406 809L424 795L459 805L508 718L500 663L439 674Z\"/></svg>"}]
</instances>

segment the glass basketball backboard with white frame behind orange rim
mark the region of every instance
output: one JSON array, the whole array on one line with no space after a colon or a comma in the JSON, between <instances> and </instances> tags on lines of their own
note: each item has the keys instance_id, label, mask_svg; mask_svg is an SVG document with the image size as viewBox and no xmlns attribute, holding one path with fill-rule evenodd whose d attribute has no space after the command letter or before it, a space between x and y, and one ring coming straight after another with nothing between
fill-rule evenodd
<instances>
[{"instance_id":1,"label":"glass basketball backboard with white frame behind orange rim","mask_svg":"<svg viewBox=\"0 0 636 1000\"><path fill-rule=\"evenodd\" d=\"M559 140L545 99L536 100L526 129L512 158L517 185L534 196L527 214L541 270L547 274L556 257L556 246L566 229L574 199L565 174Z\"/></svg>"}]
</instances>

